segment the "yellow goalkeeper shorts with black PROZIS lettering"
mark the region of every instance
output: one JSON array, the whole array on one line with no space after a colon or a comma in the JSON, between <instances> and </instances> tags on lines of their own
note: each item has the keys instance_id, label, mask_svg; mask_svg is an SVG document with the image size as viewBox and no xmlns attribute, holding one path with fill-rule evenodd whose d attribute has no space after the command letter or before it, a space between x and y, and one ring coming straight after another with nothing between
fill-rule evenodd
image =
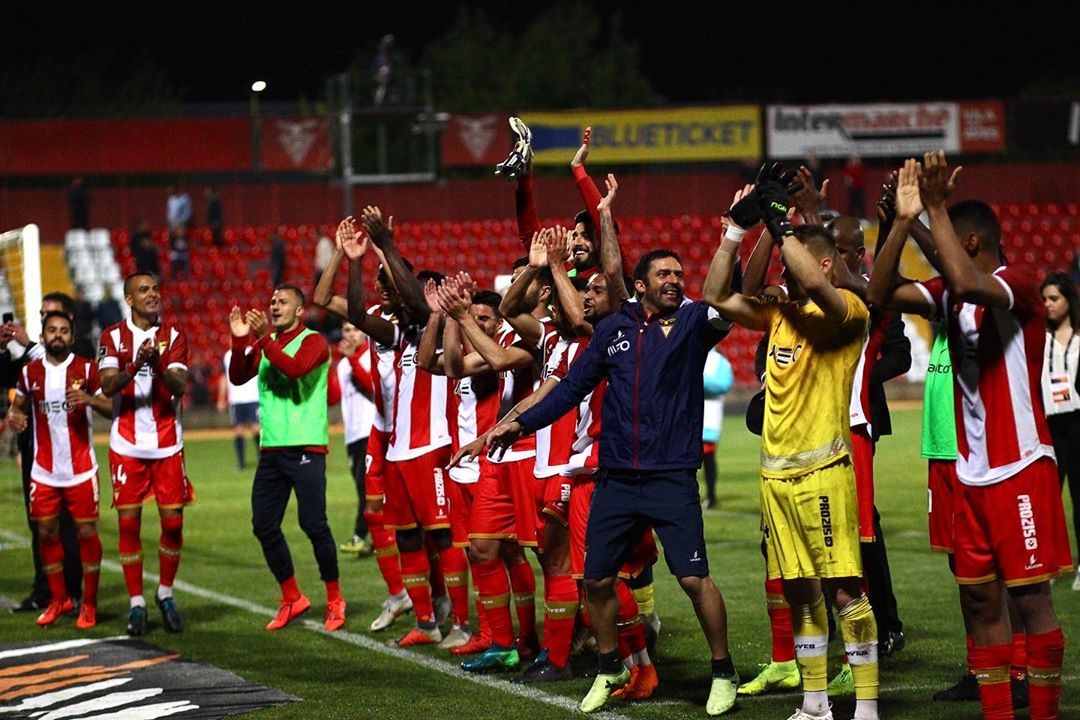
<instances>
[{"instance_id":1,"label":"yellow goalkeeper shorts with black PROZIS lettering","mask_svg":"<svg viewBox=\"0 0 1080 720\"><path fill-rule=\"evenodd\" d=\"M860 578L859 504L850 458L794 478L761 478L769 579Z\"/></svg>"}]
</instances>

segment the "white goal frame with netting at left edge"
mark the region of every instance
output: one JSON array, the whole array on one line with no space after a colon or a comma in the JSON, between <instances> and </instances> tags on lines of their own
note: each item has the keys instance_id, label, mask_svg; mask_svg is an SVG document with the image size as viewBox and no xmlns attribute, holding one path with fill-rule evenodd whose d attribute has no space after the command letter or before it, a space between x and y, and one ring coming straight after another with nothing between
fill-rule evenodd
<instances>
[{"instance_id":1,"label":"white goal frame with netting at left edge","mask_svg":"<svg viewBox=\"0 0 1080 720\"><path fill-rule=\"evenodd\" d=\"M13 313L27 335L41 335L41 247L38 226L0 233L0 313Z\"/></svg>"}]
</instances>

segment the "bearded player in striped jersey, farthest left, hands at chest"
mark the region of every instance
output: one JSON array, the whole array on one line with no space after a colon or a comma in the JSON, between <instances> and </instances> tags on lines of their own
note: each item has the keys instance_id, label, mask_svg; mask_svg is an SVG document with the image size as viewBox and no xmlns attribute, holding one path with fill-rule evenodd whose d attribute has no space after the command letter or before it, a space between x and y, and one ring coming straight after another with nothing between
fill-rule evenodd
<instances>
[{"instance_id":1,"label":"bearded player in striped jersey, farthest left, hands at chest","mask_svg":"<svg viewBox=\"0 0 1080 720\"><path fill-rule=\"evenodd\" d=\"M100 394L102 381L93 361L71 352L71 317L48 312L42 322L44 357L23 366L15 403L8 418L22 432L33 413L33 465L30 468L30 518L38 525L42 563L50 602L38 625L52 625L71 610L64 582L64 546L59 538L60 508L75 520L82 560L82 607L76 626L97 624L97 583L102 541L97 536L97 458L91 409L105 417L111 404Z\"/></svg>"}]
</instances>

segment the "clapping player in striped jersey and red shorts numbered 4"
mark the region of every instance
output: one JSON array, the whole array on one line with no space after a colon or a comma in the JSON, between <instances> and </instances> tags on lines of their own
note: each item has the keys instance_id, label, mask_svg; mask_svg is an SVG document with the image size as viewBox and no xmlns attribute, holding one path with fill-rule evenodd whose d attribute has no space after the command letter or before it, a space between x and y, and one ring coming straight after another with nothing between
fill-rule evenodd
<instances>
[{"instance_id":1,"label":"clapping player in striped jersey and red shorts numbered 4","mask_svg":"<svg viewBox=\"0 0 1080 720\"><path fill-rule=\"evenodd\" d=\"M131 596L127 634L146 633L143 597L143 504L151 497L161 516L160 581L154 600L162 623L179 633L184 621L173 598L173 581L184 545L184 506L194 489L184 468L180 398L188 382L188 341L160 318L161 286L148 273L124 280L131 317L102 331L98 368L102 392L112 398L109 466L112 505L120 522L120 565Z\"/></svg>"}]
</instances>

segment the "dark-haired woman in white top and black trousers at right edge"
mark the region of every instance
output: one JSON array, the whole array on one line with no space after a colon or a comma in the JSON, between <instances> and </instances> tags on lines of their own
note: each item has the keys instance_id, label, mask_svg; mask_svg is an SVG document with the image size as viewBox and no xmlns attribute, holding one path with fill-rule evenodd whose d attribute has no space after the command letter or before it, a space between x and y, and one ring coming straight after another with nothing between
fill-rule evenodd
<instances>
[{"instance_id":1,"label":"dark-haired woman in white top and black trousers at right edge","mask_svg":"<svg viewBox=\"0 0 1080 720\"><path fill-rule=\"evenodd\" d=\"M1063 272L1042 281L1042 304L1047 309L1047 355L1042 365L1042 404L1057 456L1057 479L1069 478L1072 497L1072 529L1080 539L1080 301L1077 288ZM1080 542L1080 540L1078 540ZM1072 581L1080 590L1080 570Z\"/></svg>"}]
</instances>

